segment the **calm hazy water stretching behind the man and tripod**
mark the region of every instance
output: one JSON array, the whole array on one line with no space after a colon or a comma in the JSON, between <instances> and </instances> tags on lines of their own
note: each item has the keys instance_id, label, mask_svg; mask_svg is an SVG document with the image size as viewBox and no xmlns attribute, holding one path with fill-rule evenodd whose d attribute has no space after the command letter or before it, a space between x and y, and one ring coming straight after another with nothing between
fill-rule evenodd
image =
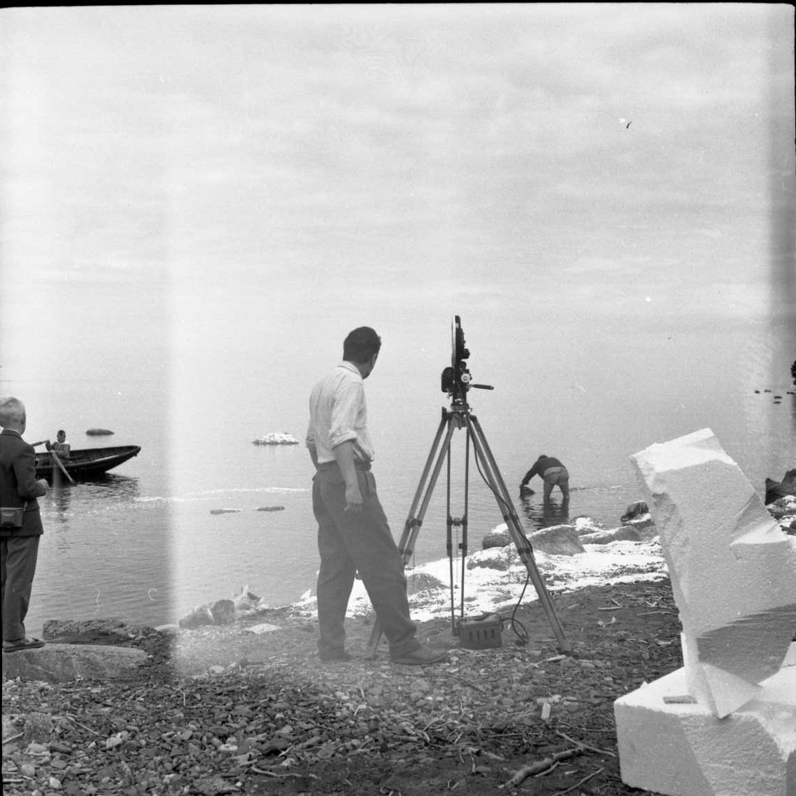
<instances>
[{"instance_id":1,"label":"calm hazy water stretching behind the man and tripod","mask_svg":"<svg viewBox=\"0 0 796 796\"><path fill-rule=\"evenodd\" d=\"M386 341L367 382L377 484L396 540L431 450L440 408L447 404L436 371L447 364L443 351L449 323L448 318L439 323L438 369L432 357L409 367L409 350L404 359L395 353L397 344ZM758 338L750 338L748 328L736 330L735 345L728 334L694 332L680 352L689 366L681 367L676 356L656 372L653 359L640 356L637 339L616 338L613 351L604 345L607 338L602 346L584 343L554 369L544 351L514 356L508 347L500 353L500 340L486 331L470 333L466 316L462 324L475 380L495 385L494 392L471 390L470 404L509 490L517 494L522 475L539 453L560 456L571 470L568 516L560 506L545 516L538 479L532 486L539 494L516 499L529 531L579 514L618 525L626 505L642 496L628 457L701 427L712 427L761 495L764 478L780 478L796 462L796 401L786 394L787 369L775 382L767 366L759 364L760 351L776 348L767 347L767 327L758 327ZM535 338L529 326L517 334ZM324 345L334 361L338 344ZM482 355L484 349L491 359ZM745 351L754 351L755 358ZM736 355L746 357L747 364L736 361ZM628 365L609 373L603 369L607 361ZM640 362L648 367L638 371ZM223 368L244 374L248 365L244 356ZM26 401L30 441L54 437L57 428L65 427L75 448L142 446L137 458L107 478L55 488L41 501L45 537L29 629L37 630L47 618L174 622L191 607L231 596L244 584L271 604L298 599L313 587L318 554L309 457L302 445L261 447L252 440L268 431L288 431L302 439L306 393L316 374L280 377L271 371L259 390L244 388L245 376L237 384L207 377L192 385L197 387L195 400L178 409L181 391L173 379L150 378L142 388L125 379L123 368L111 371L111 388L82 377L64 377L57 388L50 380L6 379L2 385L2 392ZM774 393L755 394L755 388L772 388L785 400L775 404ZM53 404L53 389L70 400ZM167 404L171 413L164 416ZM96 426L111 428L115 435L84 435ZM465 432L456 431L454 517L462 515L464 440ZM502 518L474 466L469 482L473 550ZM418 563L445 556L446 488L443 468L419 536ZM256 510L275 505L284 509ZM213 509L237 511L213 514Z\"/></svg>"}]
</instances>

